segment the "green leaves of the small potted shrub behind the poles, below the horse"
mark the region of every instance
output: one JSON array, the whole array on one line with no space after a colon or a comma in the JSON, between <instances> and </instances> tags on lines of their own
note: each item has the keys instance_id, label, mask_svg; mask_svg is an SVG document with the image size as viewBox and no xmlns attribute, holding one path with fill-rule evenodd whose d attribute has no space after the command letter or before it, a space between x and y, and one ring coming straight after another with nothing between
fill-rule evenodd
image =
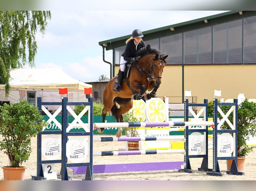
<instances>
[{"instance_id":1,"label":"green leaves of the small potted shrub behind the poles, below the horse","mask_svg":"<svg viewBox=\"0 0 256 191\"><path fill-rule=\"evenodd\" d=\"M134 116L133 111L128 111L123 115L124 122L140 122L142 119L138 119L137 117ZM128 137L136 137L138 136L138 127L127 127L123 128L123 131L126 136Z\"/></svg>"}]
</instances>

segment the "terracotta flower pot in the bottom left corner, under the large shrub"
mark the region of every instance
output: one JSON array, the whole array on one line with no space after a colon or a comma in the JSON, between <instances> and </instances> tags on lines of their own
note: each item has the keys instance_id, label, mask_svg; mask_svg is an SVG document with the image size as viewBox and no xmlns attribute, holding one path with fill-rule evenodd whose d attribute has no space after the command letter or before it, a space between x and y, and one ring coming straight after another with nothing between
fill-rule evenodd
<instances>
[{"instance_id":1,"label":"terracotta flower pot in the bottom left corner, under the large shrub","mask_svg":"<svg viewBox=\"0 0 256 191\"><path fill-rule=\"evenodd\" d=\"M2 166L4 173L4 180L24 180L25 169L27 167L9 167Z\"/></svg>"}]
</instances>

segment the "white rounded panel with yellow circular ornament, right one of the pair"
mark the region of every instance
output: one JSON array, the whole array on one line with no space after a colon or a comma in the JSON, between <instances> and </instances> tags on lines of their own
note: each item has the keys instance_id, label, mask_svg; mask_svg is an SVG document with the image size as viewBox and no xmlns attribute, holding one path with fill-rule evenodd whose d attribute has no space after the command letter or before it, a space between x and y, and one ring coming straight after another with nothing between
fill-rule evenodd
<instances>
[{"instance_id":1,"label":"white rounded panel with yellow circular ornament, right one of the pair","mask_svg":"<svg viewBox=\"0 0 256 191\"><path fill-rule=\"evenodd\" d=\"M166 116L165 103L158 97L151 98L147 101L145 109L146 119L149 122L163 122Z\"/></svg>"}]
</instances>

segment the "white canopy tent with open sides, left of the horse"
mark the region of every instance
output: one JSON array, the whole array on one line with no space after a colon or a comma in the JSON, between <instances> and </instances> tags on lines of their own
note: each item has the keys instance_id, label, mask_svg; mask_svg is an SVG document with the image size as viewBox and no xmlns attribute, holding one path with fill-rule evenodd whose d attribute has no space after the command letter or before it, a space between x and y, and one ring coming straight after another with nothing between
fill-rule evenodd
<instances>
[{"instance_id":1,"label":"white canopy tent with open sides, left of the horse","mask_svg":"<svg viewBox=\"0 0 256 191\"><path fill-rule=\"evenodd\" d=\"M17 102L19 98L27 99L27 91L36 92L36 96L48 96L42 101L61 101L58 94L60 88L67 88L68 94L74 93L68 96L69 101L70 98L72 98L71 101L85 101L84 89L92 88L92 85L75 80L59 68L12 69L10 76L10 96L8 97L10 102ZM54 96L57 98L49 100L49 97ZM5 99L5 85L0 85L0 99Z\"/></svg>"}]
</instances>

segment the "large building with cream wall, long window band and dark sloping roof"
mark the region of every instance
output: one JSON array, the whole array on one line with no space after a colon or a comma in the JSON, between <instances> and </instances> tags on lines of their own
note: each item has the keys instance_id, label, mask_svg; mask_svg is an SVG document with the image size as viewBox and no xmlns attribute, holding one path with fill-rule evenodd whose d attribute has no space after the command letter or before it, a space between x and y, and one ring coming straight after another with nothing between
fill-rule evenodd
<instances>
[{"instance_id":1,"label":"large building with cream wall, long window band and dark sloping roof","mask_svg":"<svg viewBox=\"0 0 256 191\"><path fill-rule=\"evenodd\" d=\"M256 98L256 11L229 11L142 33L146 44L168 55L158 97L182 103L184 92L191 91L194 101L203 102L218 90L219 99L237 98L239 93ZM105 50L113 51L112 76L130 37L99 42L103 60Z\"/></svg>"}]
</instances>

